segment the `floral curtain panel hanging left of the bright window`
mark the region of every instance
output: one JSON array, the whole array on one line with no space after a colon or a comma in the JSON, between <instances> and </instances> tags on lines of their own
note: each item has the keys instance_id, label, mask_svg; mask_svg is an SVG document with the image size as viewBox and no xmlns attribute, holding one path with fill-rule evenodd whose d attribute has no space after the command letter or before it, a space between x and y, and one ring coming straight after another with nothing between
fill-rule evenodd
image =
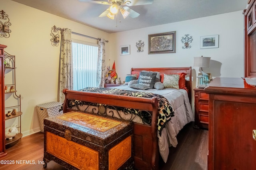
<instances>
[{"instance_id":1,"label":"floral curtain panel hanging left of the bright window","mask_svg":"<svg viewBox=\"0 0 256 170\"><path fill-rule=\"evenodd\" d=\"M72 31L64 28L61 31L60 47L60 71L59 71L59 102L64 102L65 96L63 89L73 89L73 68L72 68Z\"/></svg>"}]
</instances>

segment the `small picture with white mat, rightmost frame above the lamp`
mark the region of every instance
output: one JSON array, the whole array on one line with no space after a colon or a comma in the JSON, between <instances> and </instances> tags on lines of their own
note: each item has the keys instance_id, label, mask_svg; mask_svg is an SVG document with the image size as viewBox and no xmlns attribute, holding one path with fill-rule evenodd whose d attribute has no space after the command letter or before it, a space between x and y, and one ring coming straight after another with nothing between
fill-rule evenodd
<instances>
[{"instance_id":1,"label":"small picture with white mat, rightmost frame above the lamp","mask_svg":"<svg viewBox=\"0 0 256 170\"><path fill-rule=\"evenodd\" d=\"M200 49L219 48L219 35L200 37Z\"/></svg>"}]
</instances>

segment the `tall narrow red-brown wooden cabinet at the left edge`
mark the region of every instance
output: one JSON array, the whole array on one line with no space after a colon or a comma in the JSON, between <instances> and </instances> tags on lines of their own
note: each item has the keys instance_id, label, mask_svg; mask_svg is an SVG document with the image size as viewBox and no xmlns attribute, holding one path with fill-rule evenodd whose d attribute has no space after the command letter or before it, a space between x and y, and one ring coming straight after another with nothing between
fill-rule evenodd
<instances>
[{"instance_id":1,"label":"tall narrow red-brown wooden cabinet at the left edge","mask_svg":"<svg viewBox=\"0 0 256 170\"><path fill-rule=\"evenodd\" d=\"M5 115L4 115L4 48L6 45L0 44L0 157L6 155L5 152Z\"/></svg>"}]
</instances>

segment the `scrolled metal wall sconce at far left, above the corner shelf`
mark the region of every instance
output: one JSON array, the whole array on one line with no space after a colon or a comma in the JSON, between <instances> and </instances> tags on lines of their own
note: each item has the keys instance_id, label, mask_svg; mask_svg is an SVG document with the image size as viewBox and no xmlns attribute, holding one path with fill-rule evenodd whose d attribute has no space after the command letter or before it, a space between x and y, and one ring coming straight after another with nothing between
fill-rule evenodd
<instances>
[{"instance_id":1,"label":"scrolled metal wall sconce at far left, above the corner shelf","mask_svg":"<svg viewBox=\"0 0 256 170\"><path fill-rule=\"evenodd\" d=\"M0 37L10 37L10 32L12 31L9 29L9 26L11 25L8 15L5 14L4 10L0 11Z\"/></svg>"}]
</instances>

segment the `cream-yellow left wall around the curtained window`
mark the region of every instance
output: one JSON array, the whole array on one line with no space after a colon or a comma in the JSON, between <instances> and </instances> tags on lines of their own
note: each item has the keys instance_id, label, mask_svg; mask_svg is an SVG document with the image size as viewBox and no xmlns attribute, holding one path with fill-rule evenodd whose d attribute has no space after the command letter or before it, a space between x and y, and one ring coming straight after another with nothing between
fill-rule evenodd
<instances>
[{"instance_id":1,"label":"cream-yellow left wall around the curtained window","mask_svg":"<svg viewBox=\"0 0 256 170\"><path fill-rule=\"evenodd\" d=\"M0 44L11 55L16 55L16 90L21 94L22 133L24 136L40 131L35 106L57 101L60 45L51 45L51 29L54 25L72 31L108 39L109 34L52 14L36 10L11 0L0 0L1 9L8 14L11 33L0 38ZM95 42L72 34L75 39ZM108 55L106 43L106 55ZM6 126L13 120L6 121Z\"/></svg>"}]
</instances>

